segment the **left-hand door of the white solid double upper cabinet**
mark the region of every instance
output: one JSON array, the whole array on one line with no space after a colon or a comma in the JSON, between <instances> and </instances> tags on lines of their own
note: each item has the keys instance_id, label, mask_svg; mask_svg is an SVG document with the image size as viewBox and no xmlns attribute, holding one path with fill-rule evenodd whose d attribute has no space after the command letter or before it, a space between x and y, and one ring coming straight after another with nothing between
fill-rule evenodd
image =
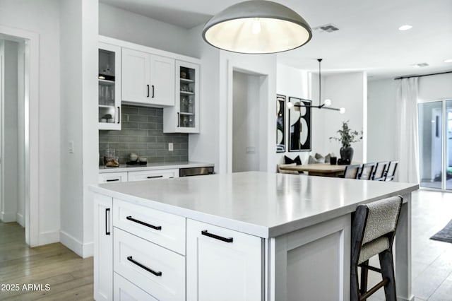
<instances>
[{"instance_id":1,"label":"left-hand door of the white solid double upper cabinet","mask_svg":"<svg viewBox=\"0 0 452 301\"><path fill-rule=\"evenodd\" d=\"M122 100L150 102L150 54L122 49Z\"/></svg>"}]
</instances>

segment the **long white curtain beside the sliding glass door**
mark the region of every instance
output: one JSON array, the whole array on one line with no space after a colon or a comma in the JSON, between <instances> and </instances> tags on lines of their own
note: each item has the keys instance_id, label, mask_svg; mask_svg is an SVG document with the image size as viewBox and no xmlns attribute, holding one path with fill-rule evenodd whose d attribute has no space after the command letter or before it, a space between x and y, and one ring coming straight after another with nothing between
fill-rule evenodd
<instances>
[{"instance_id":1,"label":"long white curtain beside the sliding glass door","mask_svg":"<svg viewBox=\"0 0 452 301\"><path fill-rule=\"evenodd\" d=\"M398 182L419 184L417 129L417 77L398 80L397 85Z\"/></svg>"}]
</instances>

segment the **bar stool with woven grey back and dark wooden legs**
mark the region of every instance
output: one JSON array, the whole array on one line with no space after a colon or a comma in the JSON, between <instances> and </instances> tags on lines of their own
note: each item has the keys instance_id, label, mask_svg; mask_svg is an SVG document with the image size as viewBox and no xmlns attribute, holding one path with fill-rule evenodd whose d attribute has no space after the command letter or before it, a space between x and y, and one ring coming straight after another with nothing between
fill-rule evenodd
<instances>
[{"instance_id":1,"label":"bar stool with woven grey back and dark wooden legs","mask_svg":"<svg viewBox=\"0 0 452 301\"><path fill-rule=\"evenodd\" d=\"M381 287L384 287L386 301L397 300L392 249L401 206L402 198L393 196L357 207L352 219L351 301L366 300ZM369 259L377 254L381 268L369 266ZM361 288L358 266L361 268ZM383 280L367 290L369 270L381 273Z\"/></svg>"}]
</instances>

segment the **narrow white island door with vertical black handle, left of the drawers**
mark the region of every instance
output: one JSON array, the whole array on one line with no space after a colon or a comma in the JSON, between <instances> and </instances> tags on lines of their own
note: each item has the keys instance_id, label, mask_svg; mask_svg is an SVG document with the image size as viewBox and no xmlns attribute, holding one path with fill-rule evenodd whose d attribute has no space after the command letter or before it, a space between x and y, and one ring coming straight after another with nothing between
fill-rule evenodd
<instances>
[{"instance_id":1,"label":"narrow white island door with vertical black handle, left of the drawers","mask_svg":"<svg viewBox=\"0 0 452 301\"><path fill-rule=\"evenodd\" d=\"M109 196L94 196L94 299L113 297L113 200Z\"/></svg>"}]
</instances>

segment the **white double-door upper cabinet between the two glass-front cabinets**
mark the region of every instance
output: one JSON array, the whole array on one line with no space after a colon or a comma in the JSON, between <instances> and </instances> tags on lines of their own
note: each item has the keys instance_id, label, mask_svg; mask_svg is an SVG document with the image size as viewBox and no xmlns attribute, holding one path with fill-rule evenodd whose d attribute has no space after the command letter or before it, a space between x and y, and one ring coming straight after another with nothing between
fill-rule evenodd
<instances>
[{"instance_id":1,"label":"white double-door upper cabinet between the two glass-front cabinets","mask_svg":"<svg viewBox=\"0 0 452 301\"><path fill-rule=\"evenodd\" d=\"M174 59L122 49L122 101L155 107L174 106Z\"/></svg>"}]
</instances>

